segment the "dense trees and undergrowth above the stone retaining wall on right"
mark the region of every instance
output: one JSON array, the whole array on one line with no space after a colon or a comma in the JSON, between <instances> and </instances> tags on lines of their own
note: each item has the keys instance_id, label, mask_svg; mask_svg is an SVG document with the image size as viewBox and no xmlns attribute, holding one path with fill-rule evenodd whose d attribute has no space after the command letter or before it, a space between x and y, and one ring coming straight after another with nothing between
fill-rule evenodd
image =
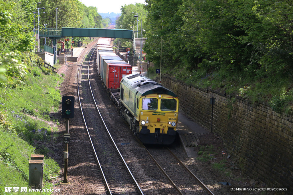
<instances>
[{"instance_id":1,"label":"dense trees and undergrowth above the stone retaining wall on right","mask_svg":"<svg viewBox=\"0 0 293 195\"><path fill-rule=\"evenodd\" d=\"M147 59L198 87L292 112L289 1L146 0Z\"/></svg>"}]
</instances>

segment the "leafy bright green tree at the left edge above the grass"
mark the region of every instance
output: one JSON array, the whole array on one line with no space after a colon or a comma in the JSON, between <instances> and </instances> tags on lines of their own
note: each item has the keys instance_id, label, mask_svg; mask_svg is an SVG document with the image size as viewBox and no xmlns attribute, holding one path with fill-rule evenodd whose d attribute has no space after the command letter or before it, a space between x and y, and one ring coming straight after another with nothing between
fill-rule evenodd
<instances>
[{"instance_id":1,"label":"leafy bright green tree at the left edge above the grass","mask_svg":"<svg viewBox=\"0 0 293 195\"><path fill-rule=\"evenodd\" d=\"M26 14L20 5L12 1L0 0L0 88L2 89L7 87L7 81L10 83L14 81L15 84L22 80L26 67L18 62L17 54L33 49L33 34L28 32Z\"/></svg>"}]
</instances>

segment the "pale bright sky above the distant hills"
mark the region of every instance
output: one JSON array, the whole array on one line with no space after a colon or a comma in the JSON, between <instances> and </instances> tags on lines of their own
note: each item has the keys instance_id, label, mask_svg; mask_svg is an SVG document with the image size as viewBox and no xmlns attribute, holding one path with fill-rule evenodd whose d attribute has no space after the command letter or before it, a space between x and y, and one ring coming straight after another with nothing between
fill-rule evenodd
<instances>
[{"instance_id":1,"label":"pale bright sky above the distant hills","mask_svg":"<svg viewBox=\"0 0 293 195\"><path fill-rule=\"evenodd\" d=\"M146 4L144 0L79 0L86 6L95 6L99 13L121 13L120 8L123 5L142 3Z\"/></svg>"}]
</instances>

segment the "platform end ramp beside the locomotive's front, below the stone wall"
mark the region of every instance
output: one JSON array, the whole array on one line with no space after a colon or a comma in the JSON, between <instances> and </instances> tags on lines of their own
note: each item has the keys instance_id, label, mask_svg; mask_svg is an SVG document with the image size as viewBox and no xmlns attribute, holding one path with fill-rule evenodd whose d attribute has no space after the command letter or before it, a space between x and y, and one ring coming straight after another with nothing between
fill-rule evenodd
<instances>
[{"instance_id":1,"label":"platform end ramp beside the locomotive's front, below the stone wall","mask_svg":"<svg viewBox=\"0 0 293 195\"><path fill-rule=\"evenodd\" d=\"M180 141L188 157L196 157L197 152L194 147L200 145L199 136L207 133L202 126L192 119L189 119L182 112L179 112L178 124L176 128Z\"/></svg>"}]
</instances>

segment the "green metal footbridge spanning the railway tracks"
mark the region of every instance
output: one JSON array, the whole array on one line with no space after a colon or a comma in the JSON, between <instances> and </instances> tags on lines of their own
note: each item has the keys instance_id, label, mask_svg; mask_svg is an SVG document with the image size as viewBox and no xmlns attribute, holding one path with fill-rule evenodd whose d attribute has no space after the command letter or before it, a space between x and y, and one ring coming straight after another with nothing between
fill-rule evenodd
<instances>
[{"instance_id":1,"label":"green metal footbridge spanning the railway tracks","mask_svg":"<svg viewBox=\"0 0 293 195\"><path fill-rule=\"evenodd\" d=\"M106 37L132 39L132 30L100 29L100 28L44 28L40 30L40 37L48 37L53 40L54 64L56 61L56 42L62 37Z\"/></svg>"}]
</instances>

